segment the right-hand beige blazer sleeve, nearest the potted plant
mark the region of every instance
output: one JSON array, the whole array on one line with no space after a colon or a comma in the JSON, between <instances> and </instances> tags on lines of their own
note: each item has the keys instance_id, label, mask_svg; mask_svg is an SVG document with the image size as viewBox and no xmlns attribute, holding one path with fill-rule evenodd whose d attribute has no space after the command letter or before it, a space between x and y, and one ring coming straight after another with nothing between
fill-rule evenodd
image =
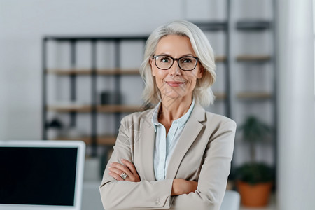
<instances>
[{"instance_id":1,"label":"right-hand beige blazer sleeve, nearest the potted plant","mask_svg":"<svg viewBox=\"0 0 315 210\"><path fill-rule=\"evenodd\" d=\"M172 197L170 209L219 210L234 150L236 123L228 120L210 137L194 193Z\"/></svg>"}]
</instances>

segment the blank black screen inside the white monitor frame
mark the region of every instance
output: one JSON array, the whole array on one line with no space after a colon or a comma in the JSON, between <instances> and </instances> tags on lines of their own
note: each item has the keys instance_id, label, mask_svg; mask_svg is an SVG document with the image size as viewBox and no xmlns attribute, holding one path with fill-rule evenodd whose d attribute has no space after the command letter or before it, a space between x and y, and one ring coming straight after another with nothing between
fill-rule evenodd
<instances>
[{"instance_id":1,"label":"blank black screen inside the white monitor frame","mask_svg":"<svg viewBox=\"0 0 315 210\"><path fill-rule=\"evenodd\" d=\"M0 147L0 204L73 206L77 150Z\"/></svg>"}]
</instances>

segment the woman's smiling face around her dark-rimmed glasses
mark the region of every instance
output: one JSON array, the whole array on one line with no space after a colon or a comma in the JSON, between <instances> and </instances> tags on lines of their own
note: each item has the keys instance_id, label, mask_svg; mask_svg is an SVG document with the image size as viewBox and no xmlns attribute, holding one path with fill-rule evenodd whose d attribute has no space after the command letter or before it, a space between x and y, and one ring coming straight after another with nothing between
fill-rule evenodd
<instances>
[{"instance_id":1,"label":"woman's smiling face around her dark-rimmed glasses","mask_svg":"<svg viewBox=\"0 0 315 210\"><path fill-rule=\"evenodd\" d=\"M190 39L187 36L168 35L161 38L155 55L167 55L173 58L183 56L196 57ZM166 62L167 60L162 60ZM152 75L161 92L162 99L169 97L172 99L184 99L193 97L198 78L202 78L202 66L197 66L192 71L183 71L179 68L178 60L168 70L161 70L155 65L155 59L151 59ZM186 62L186 60L184 61Z\"/></svg>"}]
</instances>

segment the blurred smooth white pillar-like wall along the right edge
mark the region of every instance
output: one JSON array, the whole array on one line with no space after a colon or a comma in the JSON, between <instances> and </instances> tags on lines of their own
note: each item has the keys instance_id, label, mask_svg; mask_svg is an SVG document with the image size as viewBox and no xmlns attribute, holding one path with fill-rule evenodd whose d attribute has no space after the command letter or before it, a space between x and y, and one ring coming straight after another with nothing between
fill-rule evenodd
<instances>
[{"instance_id":1,"label":"blurred smooth white pillar-like wall along the right edge","mask_svg":"<svg viewBox=\"0 0 315 210\"><path fill-rule=\"evenodd\" d=\"M279 1L279 209L315 209L314 34L309 1Z\"/></svg>"}]
</instances>

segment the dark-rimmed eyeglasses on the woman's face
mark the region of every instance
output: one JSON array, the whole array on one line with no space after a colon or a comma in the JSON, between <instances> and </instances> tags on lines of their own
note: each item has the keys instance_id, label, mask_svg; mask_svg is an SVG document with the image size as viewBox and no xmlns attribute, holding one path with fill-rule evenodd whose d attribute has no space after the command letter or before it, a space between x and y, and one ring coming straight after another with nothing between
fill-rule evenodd
<instances>
[{"instance_id":1,"label":"dark-rimmed eyeglasses on the woman's face","mask_svg":"<svg viewBox=\"0 0 315 210\"><path fill-rule=\"evenodd\" d=\"M193 56L184 56L180 58L173 58L167 55L154 55L155 66L161 70L170 69L174 62L177 61L179 68L183 71L192 71L196 68L198 58Z\"/></svg>"}]
</instances>

